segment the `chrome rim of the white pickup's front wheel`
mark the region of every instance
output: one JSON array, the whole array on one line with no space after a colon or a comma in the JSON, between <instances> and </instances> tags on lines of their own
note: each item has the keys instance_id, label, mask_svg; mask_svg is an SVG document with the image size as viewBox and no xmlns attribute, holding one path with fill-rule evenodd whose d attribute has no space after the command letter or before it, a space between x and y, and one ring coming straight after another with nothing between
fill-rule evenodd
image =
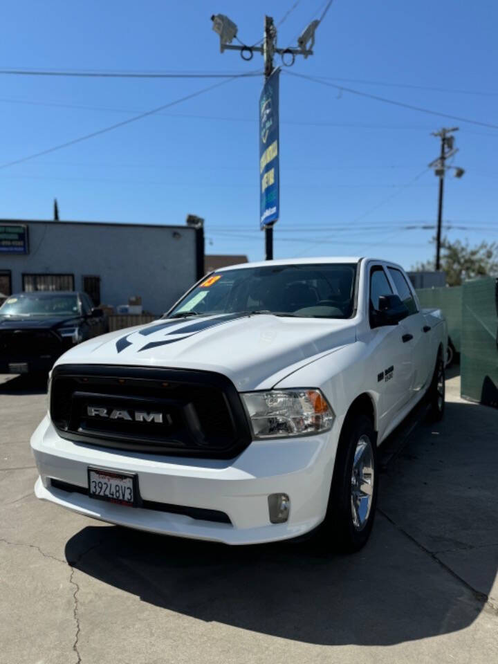
<instances>
[{"instance_id":1,"label":"chrome rim of the white pickup's front wheel","mask_svg":"<svg viewBox=\"0 0 498 664\"><path fill-rule=\"evenodd\" d=\"M356 443L351 472L351 516L356 530L367 524L374 496L374 450L371 440L362 434Z\"/></svg>"}]
</instances>

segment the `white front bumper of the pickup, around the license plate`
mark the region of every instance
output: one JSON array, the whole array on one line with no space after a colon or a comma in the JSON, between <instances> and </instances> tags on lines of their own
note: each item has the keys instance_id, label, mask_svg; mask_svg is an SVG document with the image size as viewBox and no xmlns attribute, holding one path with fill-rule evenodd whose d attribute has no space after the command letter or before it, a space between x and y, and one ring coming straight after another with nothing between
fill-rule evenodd
<instances>
[{"instance_id":1,"label":"white front bumper of the pickup, around the license plate","mask_svg":"<svg viewBox=\"0 0 498 664\"><path fill-rule=\"evenodd\" d=\"M62 439L46 416L31 438L39 470L35 494L105 522L165 535L257 544L298 537L324 519L338 441L338 422L317 436L254 441L239 457L179 459L109 450ZM231 524L152 509L130 508L51 486L51 479L86 488L87 468L134 472L146 501L217 510ZM268 495L291 499L288 522L271 524Z\"/></svg>"}]
</instances>

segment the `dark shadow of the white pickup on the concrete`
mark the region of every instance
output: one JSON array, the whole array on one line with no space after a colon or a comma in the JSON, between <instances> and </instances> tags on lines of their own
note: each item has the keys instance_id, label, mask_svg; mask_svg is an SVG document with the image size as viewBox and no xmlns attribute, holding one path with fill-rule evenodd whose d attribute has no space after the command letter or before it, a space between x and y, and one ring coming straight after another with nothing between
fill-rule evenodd
<instances>
[{"instance_id":1,"label":"dark shadow of the white pickup on the concrete","mask_svg":"<svg viewBox=\"0 0 498 664\"><path fill-rule=\"evenodd\" d=\"M469 457L465 431L454 432L476 420ZM444 423L418 427L382 475L374 532L355 555L89 526L67 542L66 559L157 607L304 643L394 645L457 631L477 618L497 571L477 548L498 523L497 488L484 481L498 461L497 420L492 409L448 403ZM467 565L475 556L478 591L445 567L442 551L461 552Z\"/></svg>"}]
</instances>

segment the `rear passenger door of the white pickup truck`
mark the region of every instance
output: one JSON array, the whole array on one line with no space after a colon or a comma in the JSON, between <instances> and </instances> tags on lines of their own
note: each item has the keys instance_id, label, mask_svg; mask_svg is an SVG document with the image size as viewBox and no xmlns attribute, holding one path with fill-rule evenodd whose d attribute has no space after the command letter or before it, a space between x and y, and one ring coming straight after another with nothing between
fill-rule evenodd
<instances>
[{"instance_id":1,"label":"rear passenger door of the white pickup truck","mask_svg":"<svg viewBox=\"0 0 498 664\"><path fill-rule=\"evenodd\" d=\"M430 363L432 362L430 326L427 326L423 313L418 310L405 275L398 268L388 267L387 269L396 292L409 311L409 316L400 322L399 327L403 329L401 336L412 353L413 374L410 389L412 396L416 396L425 387L427 380L430 380Z\"/></svg>"}]
</instances>

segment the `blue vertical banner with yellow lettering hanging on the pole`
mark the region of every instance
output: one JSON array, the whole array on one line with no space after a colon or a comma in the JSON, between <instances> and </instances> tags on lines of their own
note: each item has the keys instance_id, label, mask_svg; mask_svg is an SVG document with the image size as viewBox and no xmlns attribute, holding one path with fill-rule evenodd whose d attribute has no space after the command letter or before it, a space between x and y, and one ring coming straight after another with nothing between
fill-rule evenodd
<instances>
[{"instance_id":1,"label":"blue vertical banner with yellow lettering hanging on the pole","mask_svg":"<svg viewBox=\"0 0 498 664\"><path fill-rule=\"evenodd\" d=\"M260 228L279 218L279 68L266 80L259 98Z\"/></svg>"}]
</instances>

